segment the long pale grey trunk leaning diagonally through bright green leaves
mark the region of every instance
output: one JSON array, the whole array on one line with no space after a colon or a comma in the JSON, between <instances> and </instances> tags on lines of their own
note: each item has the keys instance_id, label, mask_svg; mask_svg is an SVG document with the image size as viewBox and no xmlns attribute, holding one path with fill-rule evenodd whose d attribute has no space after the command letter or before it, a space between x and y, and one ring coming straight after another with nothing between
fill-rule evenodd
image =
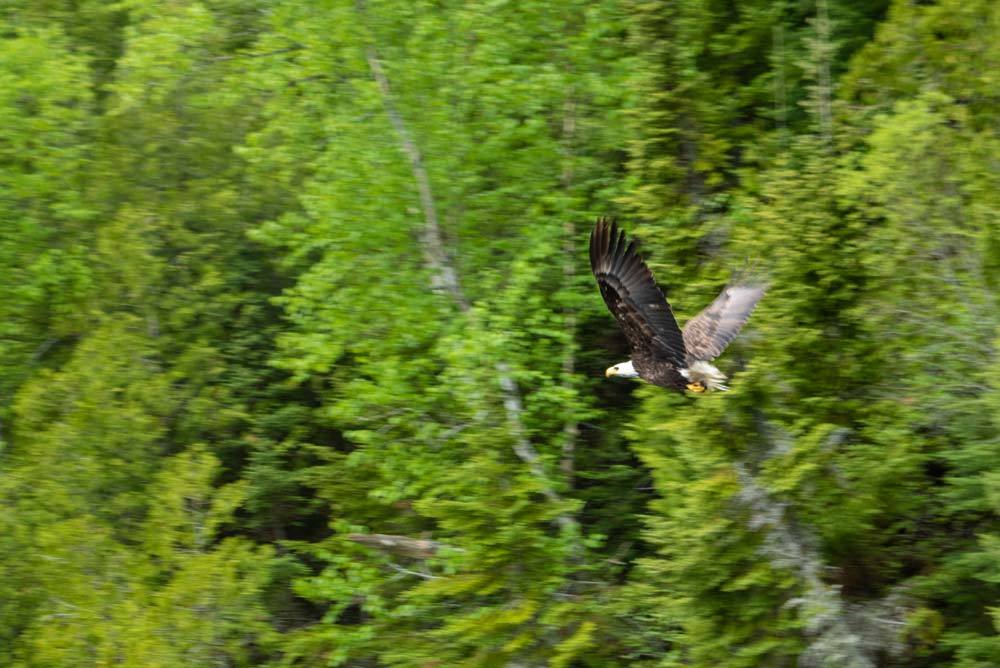
<instances>
[{"instance_id":1,"label":"long pale grey trunk leaning diagonally through bright green leaves","mask_svg":"<svg viewBox=\"0 0 1000 668\"><path fill-rule=\"evenodd\" d=\"M364 5L360 2L358 3L358 9L362 14L365 11ZM430 178L427 174L427 169L424 167L423 156L413 139L413 135L410 134L406 123L403 121L402 115L399 113L392 89L389 85L389 79L382 67L375 46L369 46L366 55L372 77L378 83L379 92L382 96L382 105L385 107L386 114L389 116L393 129L395 129L399 137L403 153L409 158L410 169L413 171L413 178L417 182L417 189L420 194L420 206L424 214L421 245L423 246L424 260L431 270L431 285L435 289L446 292L459 310L466 313L469 311L469 301L462 291L462 286L458 281L458 274L445 252L441 226L438 222L437 207L431 190ZM521 461L528 465L532 475L542 483L542 493L545 494L546 498L558 502L560 500L559 494L555 491L552 481L542 466L538 451L535 450L535 447L525 434L522 417L524 409L521 402L521 394L514 383L510 366L504 361L497 361L494 363L494 368L496 369L497 380L503 394L503 405L507 414L507 422L514 436L514 453ZM576 526L576 520L568 514L559 515L556 518L556 522L563 528Z\"/></svg>"}]
</instances>

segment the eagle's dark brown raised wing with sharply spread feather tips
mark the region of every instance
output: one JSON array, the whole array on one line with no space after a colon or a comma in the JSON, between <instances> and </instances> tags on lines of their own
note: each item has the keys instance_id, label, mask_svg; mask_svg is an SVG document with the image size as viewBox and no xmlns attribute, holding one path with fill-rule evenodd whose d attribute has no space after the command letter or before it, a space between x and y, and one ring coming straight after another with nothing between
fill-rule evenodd
<instances>
[{"instance_id":1,"label":"eagle's dark brown raised wing with sharply spread feather tips","mask_svg":"<svg viewBox=\"0 0 1000 668\"><path fill-rule=\"evenodd\" d=\"M670 305L636 254L635 242L627 243L615 222L602 218L590 233L590 267L632 350L676 369L687 366L684 336Z\"/></svg>"}]
</instances>

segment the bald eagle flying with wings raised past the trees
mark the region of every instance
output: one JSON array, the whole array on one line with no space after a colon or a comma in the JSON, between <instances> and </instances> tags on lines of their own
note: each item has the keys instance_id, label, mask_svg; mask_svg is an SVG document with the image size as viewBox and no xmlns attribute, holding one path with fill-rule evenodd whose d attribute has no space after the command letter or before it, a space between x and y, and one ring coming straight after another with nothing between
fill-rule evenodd
<instances>
[{"instance_id":1,"label":"bald eagle flying with wings raised past the trees","mask_svg":"<svg viewBox=\"0 0 1000 668\"><path fill-rule=\"evenodd\" d=\"M758 283L727 286L681 330L646 263L615 222L600 219L590 234L590 267L632 349L607 377L642 378L683 392L728 389L711 361L722 354L764 296Z\"/></svg>"}]
</instances>

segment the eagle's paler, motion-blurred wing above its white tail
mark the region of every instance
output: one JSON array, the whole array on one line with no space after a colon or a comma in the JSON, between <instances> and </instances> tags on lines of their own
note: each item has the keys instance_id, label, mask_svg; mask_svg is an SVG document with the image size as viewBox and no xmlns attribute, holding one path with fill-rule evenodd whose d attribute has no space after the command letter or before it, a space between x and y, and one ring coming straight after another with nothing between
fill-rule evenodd
<instances>
[{"instance_id":1,"label":"eagle's paler, motion-blurred wing above its white tail","mask_svg":"<svg viewBox=\"0 0 1000 668\"><path fill-rule=\"evenodd\" d=\"M687 364L710 361L722 354L743 327L766 287L762 284L727 286L708 307L684 325Z\"/></svg>"}]
</instances>

